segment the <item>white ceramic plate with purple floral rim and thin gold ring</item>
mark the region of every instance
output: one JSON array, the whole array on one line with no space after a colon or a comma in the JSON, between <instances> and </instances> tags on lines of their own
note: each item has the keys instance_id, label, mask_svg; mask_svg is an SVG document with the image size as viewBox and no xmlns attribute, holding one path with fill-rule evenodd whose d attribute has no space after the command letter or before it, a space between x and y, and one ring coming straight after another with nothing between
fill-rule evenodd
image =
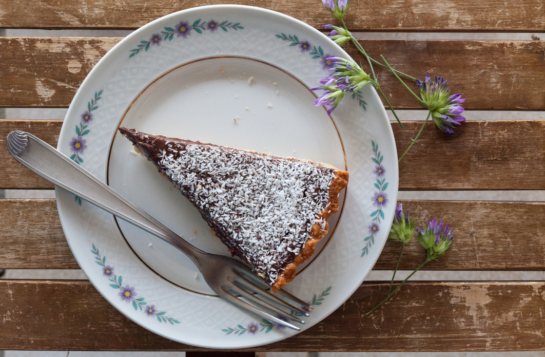
<instances>
[{"instance_id":1,"label":"white ceramic plate with purple floral rim and thin gold ring","mask_svg":"<svg viewBox=\"0 0 545 357\"><path fill-rule=\"evenodd\" d=\"M117 134L119 125L347 168L349 185L330 234L287 285L314 305L304 331L371 271L398 189L395 141L372 87L344 99L332 117L313 106L316 94L308 88L327 75L330 55L348 57L324 34L274 11L217 5L161 17L120 41L89 73L66 114L58 150L195 246L225 255L189 201ZM215 296L196 266L156 237L58 188L56 194L78 264L137 324L208 348L247 348L296 334ZM386 205L373 200L379 194Z\"/></svg>"}]
</instances>

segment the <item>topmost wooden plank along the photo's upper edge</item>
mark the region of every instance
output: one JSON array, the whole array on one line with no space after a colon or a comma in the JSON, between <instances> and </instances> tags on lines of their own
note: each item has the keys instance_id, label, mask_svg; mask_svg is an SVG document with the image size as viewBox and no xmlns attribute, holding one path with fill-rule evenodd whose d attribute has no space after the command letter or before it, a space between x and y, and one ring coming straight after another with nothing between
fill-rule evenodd
<instances>
[{"instance_id":1,"label":"topmost wooden plank along the photo's upper edge","mask_svg":"<svg viewBox=\"0 0 545 357\"><path fill-rule=\"evenodd\" d=\"M300 0L1 0L3 28L135 29L191 7L242 4L290 15L319 28L332 22L318 1ZM304 10L301 10L304 9ZM352 0L347 25L360 31L543 32L543 0Z\"/></svg>"}]
</instances>

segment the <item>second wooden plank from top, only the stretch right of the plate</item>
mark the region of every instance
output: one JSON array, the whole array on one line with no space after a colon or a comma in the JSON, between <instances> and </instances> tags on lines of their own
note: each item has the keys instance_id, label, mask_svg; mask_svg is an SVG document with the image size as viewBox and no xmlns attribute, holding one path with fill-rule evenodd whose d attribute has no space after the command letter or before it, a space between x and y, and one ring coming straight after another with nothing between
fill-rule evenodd
<instances>
[{"instance_id":1,"label":"second wooden plank from top, only the stretch right of the plate","mask_svg":"<svg viewBox=\"0 0 545 357\"><path fill-rule=\"evenodd\" d=\"M462 93L466 109L543 110L545 41L360 40L368 55L384 55L392 68L423 80L426 73L449 79L451 93ZM345 45L364 66L364 56ZM373 66L380 87L395 108L421 109L389 69ZM538 82L534 82L538 81ZM405 81L417 91L414 82Z\"/></svg>"}]
</instances>

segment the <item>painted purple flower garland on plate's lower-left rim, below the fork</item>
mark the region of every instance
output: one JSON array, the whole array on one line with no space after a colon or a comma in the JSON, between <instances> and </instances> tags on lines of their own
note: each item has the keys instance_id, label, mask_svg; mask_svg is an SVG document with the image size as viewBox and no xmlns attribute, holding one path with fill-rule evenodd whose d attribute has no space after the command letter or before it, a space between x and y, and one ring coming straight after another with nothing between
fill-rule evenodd
<instances>
[{"instance_id":1,"label":"painted purple flower garland on plate's lower-left rim, below the fork","mask_svg":"<svg viewBox=\"0 0 545 357\"><path fill-rule=\"evenodd\" d=\"M129 304L132 302L132 306L135 308L136 311L138 311L138 308L140 308L140 311L143 311L148 317L156 317L159 322L164 323L170 323L171 325L179 324L180 322L178 320L175 320L172 317L168 317L166 315L165 311L158 311L155 308L155 304L148 304L144 299L144 297L138 297L135 296L138 295L138 293L135 291L135 287L129 286L129 284L123 286L123 278L121 276L117 276L114 273L115 268L110 265L106 265L106 255L102 257L100 255L99 249L95 247L93 244L93 249L91 252L95 255L95 263L100 265L102 267L102 275L108 278L112 284L110 286L114 289L118 289L120 296L120 299L122 301L127 302Z\"/></svg>"}]
</instances>

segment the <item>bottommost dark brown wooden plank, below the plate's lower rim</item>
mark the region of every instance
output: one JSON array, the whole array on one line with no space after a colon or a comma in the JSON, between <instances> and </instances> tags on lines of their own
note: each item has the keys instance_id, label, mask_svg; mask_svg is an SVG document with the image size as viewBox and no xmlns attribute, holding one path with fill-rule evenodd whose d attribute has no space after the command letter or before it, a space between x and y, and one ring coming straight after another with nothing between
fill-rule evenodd
<instances>
[{"instance_id":1,"label":"bottommost dark brown wooden plank, below the plate's lower rim","mask_svg":"<svg viewBox=\"0 0 545 357\"><path fill-rule=\"evenodd\" d=\"M388 285L364 283L323 322L249 350L541 350L544 285L411 282L366 317ZM132 323L84 281L0 281L0 311L1 349L202 350Z\"/></svg>"}]
</instances>

